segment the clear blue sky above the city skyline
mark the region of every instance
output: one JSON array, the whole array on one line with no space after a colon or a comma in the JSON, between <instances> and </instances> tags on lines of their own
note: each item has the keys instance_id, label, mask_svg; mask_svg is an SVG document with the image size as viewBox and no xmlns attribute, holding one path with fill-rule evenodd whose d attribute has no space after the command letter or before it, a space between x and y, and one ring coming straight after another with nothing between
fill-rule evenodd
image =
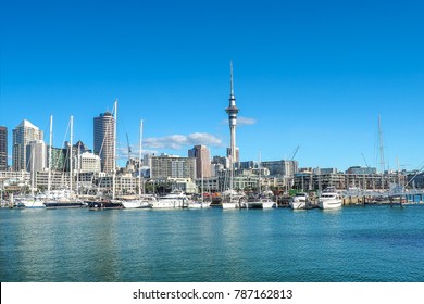
<instances>
[{"instance_id":1,"label":"clear blue sky above the city skyline","mask_svg":"<svg viewBox=\"0 0 424 304\"><path fill-rule=\"evenodd\" d=\"M146 150L225 155L233 60L242 161L300 145L301 167L376 166L381 114L386 167L424 164L423 1L0 3L10 152L22 119L48 134L50 115L54 147L73 115L92 148L92 118L117 98L121 148L142 118Z\"/></svg>"}]
</instances>

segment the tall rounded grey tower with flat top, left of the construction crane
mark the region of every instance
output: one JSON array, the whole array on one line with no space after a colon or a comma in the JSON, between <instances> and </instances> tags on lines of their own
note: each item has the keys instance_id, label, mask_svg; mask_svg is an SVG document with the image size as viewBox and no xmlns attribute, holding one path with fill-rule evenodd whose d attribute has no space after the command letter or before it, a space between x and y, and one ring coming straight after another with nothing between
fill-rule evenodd
<instances>
[{"instance_id":1,"label":"tall rounded grey tower with flat top, left of the construction crane","mask_svg":"<svg viewBox=\"0 0 424 304\"><path fill-rule=\"evenodd\" d=\"M95 117L95 154L101 159L101 170L115 168L115 117L107 111Z\"/></svg>"}]
</instances>

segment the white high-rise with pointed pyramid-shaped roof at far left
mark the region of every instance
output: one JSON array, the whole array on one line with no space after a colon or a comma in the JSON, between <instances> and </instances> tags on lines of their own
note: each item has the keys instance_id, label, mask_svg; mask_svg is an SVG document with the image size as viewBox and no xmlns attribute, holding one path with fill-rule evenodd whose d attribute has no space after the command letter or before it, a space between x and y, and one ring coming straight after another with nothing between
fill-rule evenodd
<instances>
[{"instance_id":1,"label":"white high-rise with pointed pyramid-shaped roof at far left","mask_svg":"<svg viewBox=\"0 0 424 304\"><path fill-rule=\"evenodd\" d=\"M32 141L42 140L43 132L28 121L24 119L13 130L13 170L28 170L26 163L26 149Z\"/></svg>"}]
</instances>

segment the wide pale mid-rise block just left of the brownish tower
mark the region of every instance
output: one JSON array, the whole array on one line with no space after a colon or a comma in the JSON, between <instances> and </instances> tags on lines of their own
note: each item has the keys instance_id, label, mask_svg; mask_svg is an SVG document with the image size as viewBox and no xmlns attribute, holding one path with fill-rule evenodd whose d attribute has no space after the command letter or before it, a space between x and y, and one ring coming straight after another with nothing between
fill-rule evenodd
<instances>
[{"instance_id":1,"label":"wide pale mid-rise block just left of the brownish tower","mask_svg":"<svg viewBox=\"0 0 424 304\"><path fill-rule=\"evenodd\" d=\"M150 178L196 179L196 159L162 154L151 157Z\"/></svg>"}]
</instances>

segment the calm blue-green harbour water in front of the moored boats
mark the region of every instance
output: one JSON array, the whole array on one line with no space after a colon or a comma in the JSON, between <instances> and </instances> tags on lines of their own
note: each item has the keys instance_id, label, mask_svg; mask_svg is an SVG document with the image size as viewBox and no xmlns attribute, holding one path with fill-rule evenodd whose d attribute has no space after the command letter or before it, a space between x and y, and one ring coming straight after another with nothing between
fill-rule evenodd
<instances>
[{"instance_id":1,"label":"calm blue-green harbour water in front of the moored boats","mask_svg":"<svg viewBox=\"0 0 424 304\"><path fill-rule=\"evenodd\" d=\"M423 282L424 206L0 210L0 281Z\"/></svg>"}]
</instances>

